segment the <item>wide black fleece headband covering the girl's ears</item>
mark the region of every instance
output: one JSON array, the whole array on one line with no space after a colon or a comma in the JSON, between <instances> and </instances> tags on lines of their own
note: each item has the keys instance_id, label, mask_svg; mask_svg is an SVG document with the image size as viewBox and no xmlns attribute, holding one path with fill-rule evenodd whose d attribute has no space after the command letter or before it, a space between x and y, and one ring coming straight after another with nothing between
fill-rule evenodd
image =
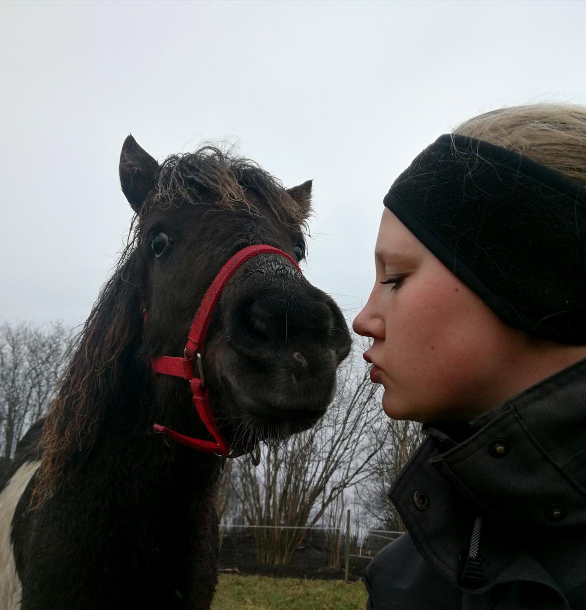
<instances>
[{"instance_id":1,"label":"wide black fleece headband covering the girl's ears","mask_svg":"<svg viewBox=\"0 0 586 610\"><path fill-rule=\"evenodd\" d=\"M586 187L500 146L444 134L384 203L505 324L586 345Z\"/></svg>"}]
</instances>

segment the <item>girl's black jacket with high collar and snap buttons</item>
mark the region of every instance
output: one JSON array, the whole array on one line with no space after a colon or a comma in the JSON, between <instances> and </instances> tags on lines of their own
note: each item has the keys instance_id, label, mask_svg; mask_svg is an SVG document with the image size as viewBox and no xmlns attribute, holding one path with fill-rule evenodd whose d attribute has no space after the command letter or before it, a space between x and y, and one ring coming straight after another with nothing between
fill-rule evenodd
<instances>
[{"instance_id":1,"label":"girl's black jacket with high collar and snap buttons","mask_svg":"<svg viewBox=\"0 0 586 610\"><path fill-rule=\"evenodd\" d=\"M367 610L586 610L586 360L467 428L428 427L395 481L409 534Z\"/></svg>"}]
</instances>

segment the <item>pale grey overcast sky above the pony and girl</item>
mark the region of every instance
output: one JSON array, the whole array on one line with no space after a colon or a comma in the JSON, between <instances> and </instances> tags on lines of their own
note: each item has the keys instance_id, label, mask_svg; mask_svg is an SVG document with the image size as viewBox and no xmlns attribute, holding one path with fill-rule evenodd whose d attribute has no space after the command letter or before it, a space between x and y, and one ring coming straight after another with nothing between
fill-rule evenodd
<instances>
[{"instance_id":1,"label":"pale grey overcast sky above the pony and girl","mask_svg":"<svg viewBox=\"0 0 586 610\"><path fill-rule=\"evenodd\" d=\"M131 218L129 132L313 178L306 275L352 318L397 174L479 112L586 104L585 25L578 1L1 2L0 318L87 317Z\"/></svg>"}]
</instances>

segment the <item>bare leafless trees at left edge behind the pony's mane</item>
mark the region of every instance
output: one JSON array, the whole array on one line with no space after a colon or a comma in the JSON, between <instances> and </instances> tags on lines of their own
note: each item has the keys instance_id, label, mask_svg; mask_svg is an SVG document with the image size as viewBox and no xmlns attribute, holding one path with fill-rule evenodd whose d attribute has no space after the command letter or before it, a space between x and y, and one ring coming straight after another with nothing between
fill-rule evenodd
<instances>
[{"instance_id":1,"label":"bare leafless trees at left edge behind the pony's mane","mask_svg":"<svg viewBox=\"0 0 586 610\"><path fill-rule=\"evenodd\" d=\"M70 345L59 322L46 326L0 325L0 456L45 414Z\"/></svg>"}]
</instances>

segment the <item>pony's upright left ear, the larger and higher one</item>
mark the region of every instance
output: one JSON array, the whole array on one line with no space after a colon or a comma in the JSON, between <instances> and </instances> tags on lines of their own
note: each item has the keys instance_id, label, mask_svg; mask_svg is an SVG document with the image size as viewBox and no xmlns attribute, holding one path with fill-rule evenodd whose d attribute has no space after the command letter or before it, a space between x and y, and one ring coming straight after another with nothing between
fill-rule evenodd
<instances>
[{"instance_id":1,"label":"pony's upright left ear, the larger and higher one","mask_svg":"<svg viewBox=\"0 0 586 610\"><path fill-rule=\"evenodd\" d=\"M154 187L159 163L129 135L120 152L120 186L128 203L139 212L151 188Z\"/></svg>"}]
</instances>

